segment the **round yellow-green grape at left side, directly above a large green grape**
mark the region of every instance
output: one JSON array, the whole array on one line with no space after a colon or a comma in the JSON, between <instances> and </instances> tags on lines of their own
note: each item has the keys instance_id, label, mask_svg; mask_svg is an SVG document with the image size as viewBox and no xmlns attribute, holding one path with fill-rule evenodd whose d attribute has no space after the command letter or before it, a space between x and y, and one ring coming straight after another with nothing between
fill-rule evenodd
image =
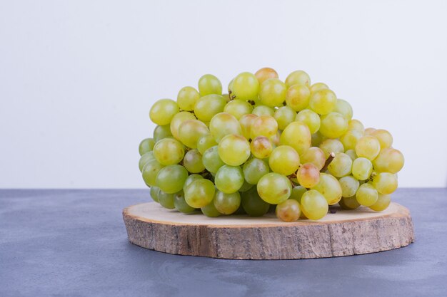
<instances>
[{"instance_id":1,"label":"round yellow-green grape at left side, directly above a large green grape","mask_svg":"<svg viewBox=\"0 0 447 297\"><path fill-rule=\"evenodd\" d=\"M161 165L178 164L184 155L184 145L174 138L164 138L154 146L154 157Z\"/></svg>"}]
</instances>

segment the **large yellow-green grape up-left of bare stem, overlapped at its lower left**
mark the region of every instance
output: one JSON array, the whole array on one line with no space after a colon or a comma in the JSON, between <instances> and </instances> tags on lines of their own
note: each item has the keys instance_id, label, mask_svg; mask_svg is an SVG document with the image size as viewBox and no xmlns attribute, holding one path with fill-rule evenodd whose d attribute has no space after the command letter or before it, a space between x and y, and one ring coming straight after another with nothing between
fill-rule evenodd
<instances>
[{"instance_id":1,"label":"large yellow-green grape up-left of bare stem, overlapped at its lower left","mask_svg":"<svg viewBox=\"0 0 447 297\"><path fill-rule=\"evenodd\" d=\"M305 123L290 123L281 133L279 143L281 145L290 145L301 155L311 147L311 131Z\"/></svg>"}]
</instances>

